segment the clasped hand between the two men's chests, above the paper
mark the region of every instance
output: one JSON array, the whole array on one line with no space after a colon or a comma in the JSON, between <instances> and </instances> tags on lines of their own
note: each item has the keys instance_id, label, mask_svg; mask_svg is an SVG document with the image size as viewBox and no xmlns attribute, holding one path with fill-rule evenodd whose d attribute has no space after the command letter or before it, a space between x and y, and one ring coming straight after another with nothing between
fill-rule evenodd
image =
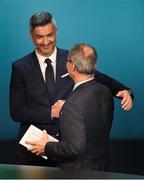
<instances>
[{"instance_id":1,"label":"clasped hand between the two men's chests, above the paper","mask_svg":"<svg viewBox=\"0 0 144 180\"><path fill-rule=\"evenodd\" d=\"M60 111L64 105L64 100L58 100L51 108L51 117L59 118Z\"/></svg>"}]
</instances>

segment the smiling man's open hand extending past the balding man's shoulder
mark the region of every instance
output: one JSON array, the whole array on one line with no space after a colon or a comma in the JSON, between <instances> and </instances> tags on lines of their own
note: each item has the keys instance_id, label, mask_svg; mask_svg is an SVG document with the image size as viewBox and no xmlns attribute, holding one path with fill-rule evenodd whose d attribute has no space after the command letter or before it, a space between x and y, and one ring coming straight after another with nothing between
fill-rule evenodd
<instances>
[{"instance_id":1,"label":"smiling man's open hand extending past the balding man's shoulder","mask_svg":"<svg viewBox=\"0 0 144 180\"><path fill-rule=\"evenodd\" d=\"M119 91L116 94L116 97L122 98L121 105L124 110L128 111L132 108L133 101L129 91L127 90Z\"/></svg>"}]
</instances>

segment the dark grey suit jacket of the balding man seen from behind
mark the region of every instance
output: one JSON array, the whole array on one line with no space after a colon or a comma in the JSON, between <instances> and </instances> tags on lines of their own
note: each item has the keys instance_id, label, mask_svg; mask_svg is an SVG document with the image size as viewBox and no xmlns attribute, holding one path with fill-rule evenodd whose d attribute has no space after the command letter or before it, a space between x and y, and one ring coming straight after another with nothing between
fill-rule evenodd
<instances>
[{"instance_id":1,"label":"dark grey suit jacket of the balding man seen from behind","mask_svg":"<svg viewBox=\"0 0 144 180\"><path fill-rule=\"evenodd\" d=\"M62 139L47 143L46 155L57 157L64 168L104 170L112 119L110 90L95 80L81 84L62 108Z\"/></svg>"}]
</instances>

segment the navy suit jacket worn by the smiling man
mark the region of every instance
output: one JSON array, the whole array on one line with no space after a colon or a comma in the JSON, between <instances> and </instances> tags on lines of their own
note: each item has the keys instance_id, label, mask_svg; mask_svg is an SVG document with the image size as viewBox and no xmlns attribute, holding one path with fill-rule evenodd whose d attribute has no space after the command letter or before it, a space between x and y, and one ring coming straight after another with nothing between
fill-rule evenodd
<instances>
[{"instance_id":1,"label":"navy suit jacket worn by the smiling man","mask_svg":"<svg viewBox=\"0 0 144 180\"><path fill-rule=\"evenodd\" d=\"M50 107L58 99L65 99L73 88L73 81L69 76L61 78L63 74L67 73L67 56L67 50L58 48L56 89L53 98L48 95L35 51L12 64L10 114L14 121L20 122L18 141L30 124L42 130L46 129L51 135L59 132L59 121L51 120ZM98 71L95 74L95 78L97 81L106 84L113 95L119 90L128 89L123 84ZM34 155L31 155L19 144L18 155L27 158L32 157L31 159L35 158Z\"/></svg>"}]
</instances>

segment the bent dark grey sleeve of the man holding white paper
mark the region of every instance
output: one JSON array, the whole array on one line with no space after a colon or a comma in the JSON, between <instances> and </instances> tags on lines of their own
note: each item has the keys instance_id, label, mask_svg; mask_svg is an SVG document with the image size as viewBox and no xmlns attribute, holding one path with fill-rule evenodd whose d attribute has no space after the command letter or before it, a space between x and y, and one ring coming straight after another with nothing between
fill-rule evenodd
<instances>
[{"instance_id":1,"label":"bent dark grey sleeve of the man holding white paper","mask_svg":"<svg viewBox=\"0 0 144 180\"><path fill-rule=\"evenodd\" d=\"M45 147L48 157L72 158L85 151L84 113L73 103L66 103L60 118L62 141L49 142Z\"/></svg>"}]
</instances>

